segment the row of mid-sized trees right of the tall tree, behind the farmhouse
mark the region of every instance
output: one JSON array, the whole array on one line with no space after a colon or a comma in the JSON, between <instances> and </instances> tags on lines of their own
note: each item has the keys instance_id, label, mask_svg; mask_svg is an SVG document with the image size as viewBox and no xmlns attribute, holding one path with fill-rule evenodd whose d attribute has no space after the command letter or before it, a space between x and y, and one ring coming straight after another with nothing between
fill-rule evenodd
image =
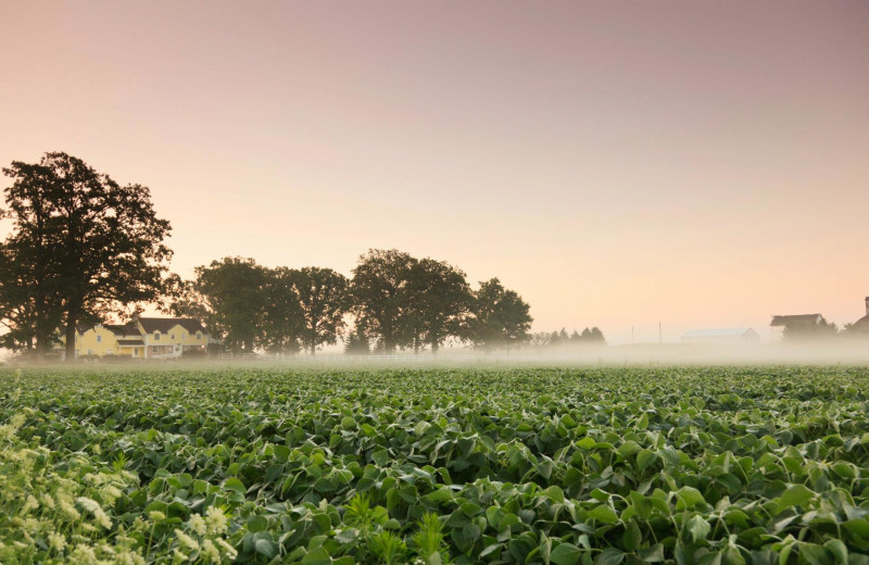
<instances>
[{"instance_id":1,"label":"row of mid-sized trees right of the tall tree, behind the farmhouse","mask_svg":"<svg viewBox=\"0 0 869 565\"><path fill-rule=\"evenodd\" d=\"M528 338L528 303L496 278L474 290L457 267L394 249L369 250L352 274L224 258L197 267L191 280L173 277L163 307L201 318L237 352L314 354L341 336L357 354L437 353L450 339L508 350Z\"/></svg>"}]
</instances>

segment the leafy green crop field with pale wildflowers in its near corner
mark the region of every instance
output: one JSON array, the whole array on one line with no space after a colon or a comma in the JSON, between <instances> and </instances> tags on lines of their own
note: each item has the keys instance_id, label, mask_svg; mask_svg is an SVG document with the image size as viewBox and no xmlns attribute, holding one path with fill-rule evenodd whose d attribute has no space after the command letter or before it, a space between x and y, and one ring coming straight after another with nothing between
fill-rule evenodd
<instances>
[{"instance_id":1,"label":"leafy green crop field with pale wildflowers in its near corner","mask_svg":"<svg viewBox=\"0 0 869 565\"><path fill-rule=\"evenodd\" d=\"M869 369L0 372L0 562L869 563Z\"/></svg>"}]
</instances>

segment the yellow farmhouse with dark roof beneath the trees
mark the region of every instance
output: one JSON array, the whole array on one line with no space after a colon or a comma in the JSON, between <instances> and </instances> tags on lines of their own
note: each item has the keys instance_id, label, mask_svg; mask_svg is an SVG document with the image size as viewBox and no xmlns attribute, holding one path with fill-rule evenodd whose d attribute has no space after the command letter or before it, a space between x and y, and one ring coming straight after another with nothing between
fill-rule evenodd
<instances>
[{"instance_id":1,"label":"yellow farmhouse with dark roof beneath the trees","mask_svg":"<svg viewBox=\"0 0 869 565\"><path fill-rule=\"evenodd\" d=\"M174 359L207 350L210 336L196 318L139 317L128 324L79 324L75 356ZM62 350L63 343L59 346Z\"/></svg>"}]
</instances>

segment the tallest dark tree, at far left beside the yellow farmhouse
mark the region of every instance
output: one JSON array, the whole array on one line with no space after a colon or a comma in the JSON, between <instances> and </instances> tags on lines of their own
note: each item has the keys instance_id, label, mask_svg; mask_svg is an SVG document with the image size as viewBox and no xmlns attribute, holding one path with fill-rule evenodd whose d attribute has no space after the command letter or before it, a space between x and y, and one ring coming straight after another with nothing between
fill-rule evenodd
<instances>
[{"instance_id":1,"label":"tallest dark tree, at far left beside the yellow farmhouse","mask_svg":"<svg viewBox=\"0 0 869 565\"><path fill-rule=\"evenodd\" d=\"M32 335L40 350L50 347L49 326L65 324L72 361L79 322L159 296L172 256L163 243L169 223L156 216L147 187L121 186L66 153L46 153L38 164L13 161L3 173L13 179L3 211L13 221L3 261L13 269L0 278L4 287L13 279L3 300L18 300L3 315L29 309L18 318L29 329L14 330ZM21 296L16 285L29 292Z\"/></svg>"}]
</instances>

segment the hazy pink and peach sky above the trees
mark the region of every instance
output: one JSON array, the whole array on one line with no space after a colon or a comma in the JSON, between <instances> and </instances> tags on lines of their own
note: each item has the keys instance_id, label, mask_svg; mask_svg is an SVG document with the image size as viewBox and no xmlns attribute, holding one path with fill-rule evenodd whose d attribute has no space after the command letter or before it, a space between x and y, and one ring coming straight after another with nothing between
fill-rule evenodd
<instances>
[{"instance_id":1,"label":"hazy pink and peach sky above the trees","mask_svg":"<svg viewBox=\"0 0 869 565\"><path fill-rule=\"evenodd\" d=\"M0 0L0 165L148 186L185 276L396 248L613 343L865 314L869 2Z\"/></svg>"}]
</instances>

